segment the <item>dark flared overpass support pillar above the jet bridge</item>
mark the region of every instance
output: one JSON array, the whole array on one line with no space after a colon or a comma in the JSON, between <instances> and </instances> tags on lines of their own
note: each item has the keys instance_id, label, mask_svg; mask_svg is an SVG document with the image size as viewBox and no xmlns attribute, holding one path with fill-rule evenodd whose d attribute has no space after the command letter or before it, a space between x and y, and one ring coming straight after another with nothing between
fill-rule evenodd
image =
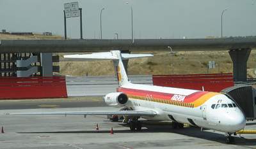
<instances>
[{"instance_id":1,"label":"dark flared overpass support pillar above the jet bridge","mask_svg":"<svg viewBox=\"0 0 256 149\"><path fill-rule=\"evenodd\" d=\"M247 78L247 60L251 48L232 49L228 53L233 61L233 74L235 82L244 82Z\"/></svg>"}]
</instances>

